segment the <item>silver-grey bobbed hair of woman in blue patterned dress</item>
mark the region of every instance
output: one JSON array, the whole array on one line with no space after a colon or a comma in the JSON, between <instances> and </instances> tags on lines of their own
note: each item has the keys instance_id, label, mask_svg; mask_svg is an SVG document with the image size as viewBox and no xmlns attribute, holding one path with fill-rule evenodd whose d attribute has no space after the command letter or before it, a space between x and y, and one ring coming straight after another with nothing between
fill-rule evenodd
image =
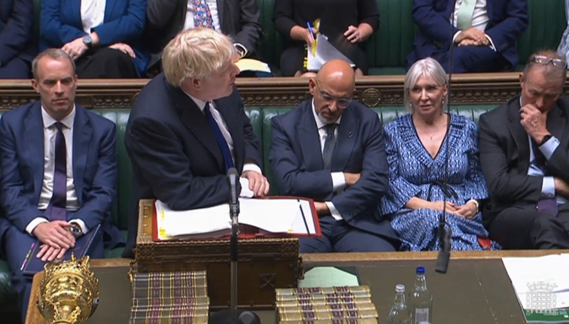
<instances>
[{"instance_id":1,"label":"silver-grey bobbed hair of woman in blue patterned dress","mask_svg":"<svg viewBox=\"0 0 569 324\"><path fill-rule=\"evenodd\" d=\"M431 57L418 60L411 65L411 68L407 71L407 74L405 74L405 82L403 82L403 104L411 114L415 112L415 109L413 108L413 105L411 105L409 92L411 91L411 88L417 84L417 80L419 80L420 76L432 78L432 80L434 80L439 86L448 85L447 73L444 72L443 67L441 67L440 64ZM443 99L443 107L445 102L448 102L448 93L447 97Z\"/></svg>"}]
</instances>

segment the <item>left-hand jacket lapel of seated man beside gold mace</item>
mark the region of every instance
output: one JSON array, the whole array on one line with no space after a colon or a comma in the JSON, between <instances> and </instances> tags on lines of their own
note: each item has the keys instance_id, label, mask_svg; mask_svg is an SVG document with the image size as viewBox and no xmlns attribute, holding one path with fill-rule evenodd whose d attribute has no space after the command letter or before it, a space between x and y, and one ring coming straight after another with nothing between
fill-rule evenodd
<instances>
[{"instance_id":1,"label":"left-hand jacket lapel of seated man beside gold mace","mask_svg":"<svg viewBox=\"0 0 569 324\"><path fill-rule=\"evenodd\" d=\"M30 108L28 115L24 119L24 138L27 143L26 156L30 161L33 172L34 192L39 198L42 192L43 167L44 167L44 147L43 147L43 119L42 105L38 101Z\"/></svg>"}]
</instances>

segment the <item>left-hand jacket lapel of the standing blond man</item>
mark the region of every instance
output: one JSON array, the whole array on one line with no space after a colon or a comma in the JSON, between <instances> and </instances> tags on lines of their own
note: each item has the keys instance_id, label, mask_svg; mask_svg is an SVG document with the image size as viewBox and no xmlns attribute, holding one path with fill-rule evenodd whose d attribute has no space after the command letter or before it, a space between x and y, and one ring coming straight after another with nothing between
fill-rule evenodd
<instances>
[{"instance_id":1,"label":"left-hand jacket lapel of the standing blond man","mask_svg":"<svg viewBox=\"0 0 569 324\"><path fill-rule=\"evenodd\" d=\"M164 81L166 82L166 81ZM176 97L174 102L176 102L176 106L178 110L181 111L182 114L182 123L188 130L195 136L197 140L207 149L212 156L217 161L217 166L222 172L225 172L224 168L224 159L223 155L221 154L221 150L219 145L217 144L217 140L215 138L215 134L211 127L209 126L209 122L207 118L205 118L204 113L197 107L196 103L188 97L180 89L172 88L171 86L167 85L170 89L170 93Z\"/></svg>"}]
</instances>

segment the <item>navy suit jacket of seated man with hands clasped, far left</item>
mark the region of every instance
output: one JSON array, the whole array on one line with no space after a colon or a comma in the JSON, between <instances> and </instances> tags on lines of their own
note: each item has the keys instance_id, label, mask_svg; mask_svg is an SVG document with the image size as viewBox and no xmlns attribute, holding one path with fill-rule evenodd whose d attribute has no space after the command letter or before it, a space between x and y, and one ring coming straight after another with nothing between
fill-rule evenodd
<instances>
[{"instance_id":1,"label":"navy suit jacket of seated man with hands clasped, far left","mask_svg":"<svg viewBox=\"0 0 569 324\"><path fill-rule=\"evenodd\" d=\"M73 213L89 229L102 224L105 247L122 242L122 235L110 222L116 197L117 129L113 122L75 105L73 122L73 182L80 209ZM0 119L0 165L2 207L8 222L0 223L0 242L7 226L25 232L36 217L44 174L42 108L39 101L6 111ZM69 218L69 215L68 215Z\"/></svg>"}]
</instances>

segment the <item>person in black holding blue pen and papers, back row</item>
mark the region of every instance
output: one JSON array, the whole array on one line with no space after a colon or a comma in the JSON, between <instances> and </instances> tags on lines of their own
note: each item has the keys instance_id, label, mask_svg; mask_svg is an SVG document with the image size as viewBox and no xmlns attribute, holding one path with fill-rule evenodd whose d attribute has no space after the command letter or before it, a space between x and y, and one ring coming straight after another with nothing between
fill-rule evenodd
<instances>
[{"instance_id":1,"label":"person in black holding blue pen and papers, back row","mask_svg":"<svg viewBox=\"0 0 569 324\"><path fill-rule=\"evenodd\" d=\"M380 27L376 0L275 0L274 7L275 28L286 40L280 64L283 77L315 76L315 71L306 69L306 57L318 30L314 26L308 30L307 22L319 19L327 10L342 10L345 20L338 24L349 25L344 36L364 52L365 41ZM358 63L356 76L368 74L365 57Z\"/></svg>"}]
</instances>

